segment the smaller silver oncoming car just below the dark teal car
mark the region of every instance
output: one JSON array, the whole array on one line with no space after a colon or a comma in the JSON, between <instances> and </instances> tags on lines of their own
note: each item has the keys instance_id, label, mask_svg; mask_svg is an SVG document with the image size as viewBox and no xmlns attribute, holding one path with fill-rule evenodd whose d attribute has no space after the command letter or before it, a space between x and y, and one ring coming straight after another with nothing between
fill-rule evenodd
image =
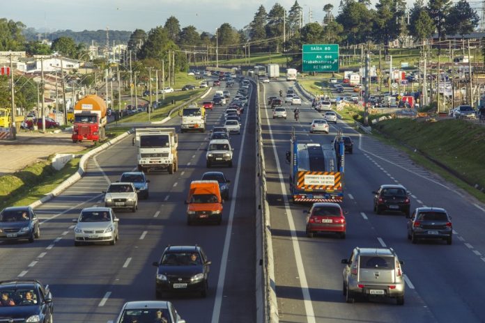
<instances>
[{"instance_id":1,"label":"smaller silver oncoming car just below the dark teal car","mask_svg":"<svg viewBox=\"0 0 485 323\"><path fill-rule=\"evenodd\" d=\"M111 183L105 193L105 207L114 209L131 209L136 212L138 209L137 189L131 182Z\"/></svg>"}]
</instances>

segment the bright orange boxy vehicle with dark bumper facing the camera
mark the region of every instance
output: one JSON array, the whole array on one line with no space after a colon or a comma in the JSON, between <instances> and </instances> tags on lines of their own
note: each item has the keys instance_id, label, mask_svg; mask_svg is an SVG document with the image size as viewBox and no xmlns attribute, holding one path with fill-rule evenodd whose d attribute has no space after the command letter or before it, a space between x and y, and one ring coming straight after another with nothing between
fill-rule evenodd
<instances>
[{"instance_id":1,"label":"bright orange boxy vehicle with dark bumper facing the camera","mask_svg":"<svg viewBox=\"0 0 485 323\"><path fill-rule=\"evenodd\" d=\"M215 221L222 223L222 200L217 180L193 180L185 204L187 224L194 221Z\"/></svg>"}]
</instances>

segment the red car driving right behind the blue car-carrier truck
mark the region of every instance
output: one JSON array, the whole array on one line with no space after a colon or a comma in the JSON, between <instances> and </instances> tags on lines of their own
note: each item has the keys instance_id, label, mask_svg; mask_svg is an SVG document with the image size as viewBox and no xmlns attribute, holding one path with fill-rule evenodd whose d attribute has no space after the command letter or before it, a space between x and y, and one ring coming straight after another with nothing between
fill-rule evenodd
<instances>
[{"instance_id":1,"label":"red car driving right behind the blue car-carrier truck","mask_svg":"<svg viewBox=\"0 0 485 323\"><path fill-rule=\"evenodd\" d=\"M344 212L337 203L314 203L307 216L307 237L313 237L314 233L337 233L345 239L347 223Z\"/></svg>"}]
</instances>

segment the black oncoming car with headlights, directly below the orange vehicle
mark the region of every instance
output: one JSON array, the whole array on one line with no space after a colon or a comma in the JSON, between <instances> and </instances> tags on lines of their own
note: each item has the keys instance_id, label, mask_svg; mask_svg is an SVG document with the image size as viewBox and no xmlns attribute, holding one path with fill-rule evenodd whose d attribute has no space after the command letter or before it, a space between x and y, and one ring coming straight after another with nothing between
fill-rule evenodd
<instances>
[{"instance_id":1,"label":"black oncoming car with headlights, directly below the orange vehicle","mask_svg":"<svg viewBox=\"0 0 485 323\"><path fill-rule=\"evenodd\" d=\"M163 292L198 292L207 296L210 261L200 246L167 246L157 267L155 296Z\"/></svg>"}]
</instances>

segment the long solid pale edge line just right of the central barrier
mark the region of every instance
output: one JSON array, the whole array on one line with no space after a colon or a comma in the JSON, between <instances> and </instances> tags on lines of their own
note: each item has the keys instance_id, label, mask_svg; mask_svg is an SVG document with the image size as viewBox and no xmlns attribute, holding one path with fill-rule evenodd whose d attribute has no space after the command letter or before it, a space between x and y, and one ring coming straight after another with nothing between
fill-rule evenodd
<instances>
[{"instance_id":1,"label":"long solid pale edge line just right of the central barrier","mask_svg":"<svg viewBox=\"0 0 485 323\"><path fill-rule=\"evenodd\" d=\"M263 90L263 97L265 97L265 91ZM268 116L268 109L266 109L266 104L263 102L263 109L266 114L266 118L270 120ZM298 242L298 237L296 236L295 222L293 221L293 215L291 214L290 204L288 202L288 196L286 195L286 184L284 182L282 167L279 164L278 152L275 145L275 137L272 134L271 123L268 122L268 132L270 133L270 141L272 145L273 155L276 161L276 168L278 170L279 184L281 191L283 192L284 208L286 210L286 219L288 220L288 226L290 227L291 241L293 242L293 253L295 255L296 269L298 272L298 277L300 277L300 288L303 295L303 305L305 306L305 316L307 317L308 323L315 323L316 317L314 313L313 304L311 304L311 297L308 287L307 276L305 274L305 268L303 267L303 259L300 251L300 243ZM213 322L215 323L215 322Z\"/></svg>"}]
</instances>

